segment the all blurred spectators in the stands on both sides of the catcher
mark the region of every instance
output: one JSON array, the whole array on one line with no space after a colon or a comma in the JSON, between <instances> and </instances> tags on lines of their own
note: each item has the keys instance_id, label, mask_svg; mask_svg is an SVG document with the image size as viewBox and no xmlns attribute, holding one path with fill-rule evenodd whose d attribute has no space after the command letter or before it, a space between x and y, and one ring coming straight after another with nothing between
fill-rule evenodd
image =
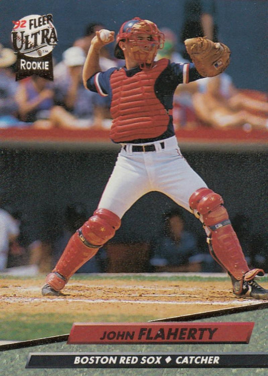
<instances>
[{"instance_id":1,"label":"all blurred spectators in the stands on both sides of the catcher","mask_svg":"<svg viewBox=\"0 0 268 376\"><path fill-rule=\"evenodd\" d=\"M186 24L186 31L182 31L182 38L187 36L188 26ZM194 31L192 24L191 27ZM16 55L12 49L0 45L0 128L109 129L109 99L85 89L81 79L91 41L96 31L103 28L101 23L86 27L84 35L63 52L62 60L54 61L53 81L38 75L16 81ZM172 30L163 28L161 31L165 43L156 59L164 57L175 63L189 62L183 43ZM197 28L196 33L201 31ZM210 34L209 30L207 33ZM122 64L122 60L111 56L108 48L101 50L102 70ZM265 92L236 88L226 73L181 84L174 96L174 126L176 130L197 127L268 130L267 98Z\"/></svg>"}]
</instances>

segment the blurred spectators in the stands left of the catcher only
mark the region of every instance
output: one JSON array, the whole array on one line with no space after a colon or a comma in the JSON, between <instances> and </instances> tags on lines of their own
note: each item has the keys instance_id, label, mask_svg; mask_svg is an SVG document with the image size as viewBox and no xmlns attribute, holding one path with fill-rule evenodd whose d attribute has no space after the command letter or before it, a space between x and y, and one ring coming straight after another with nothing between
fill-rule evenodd
<instances>
[{"instance_id":1,"label":"blurred spectators in the stands left of the catcher only","mask_svg":"<svg viewBox=\"0 0 268 376\"><path fill-rule=\"evenodd\" d=\"M86 90L82 67L91 40L102 24L86 27L84 36L75 40L54 61L53 81L32 75L18 82L14 76L16 56L11 49L0 50L0 127L50 129L106 128L110 126L109 100ZM117 61L102 49L101 67L117 66Z\"/></svg>"}]
</instances>

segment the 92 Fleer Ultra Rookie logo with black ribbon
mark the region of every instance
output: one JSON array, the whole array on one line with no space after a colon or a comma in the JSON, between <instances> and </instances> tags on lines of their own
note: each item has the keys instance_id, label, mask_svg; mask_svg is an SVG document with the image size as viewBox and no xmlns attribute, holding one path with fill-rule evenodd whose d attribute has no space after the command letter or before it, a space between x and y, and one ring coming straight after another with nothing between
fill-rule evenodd
<instances>
[{"instance_id":1,"label":"92 Fleer Ultra Rookie logo with black ribbon","mask_svg":"<svg viewBox=\"0 0 268 376\"><path fill-rule=\"evenodd\" d=\"M51 14L13 21L12 44L17 54L16 80L37 74L53 80L52 50L57 33Z\"/></svg>"}]
</instances>

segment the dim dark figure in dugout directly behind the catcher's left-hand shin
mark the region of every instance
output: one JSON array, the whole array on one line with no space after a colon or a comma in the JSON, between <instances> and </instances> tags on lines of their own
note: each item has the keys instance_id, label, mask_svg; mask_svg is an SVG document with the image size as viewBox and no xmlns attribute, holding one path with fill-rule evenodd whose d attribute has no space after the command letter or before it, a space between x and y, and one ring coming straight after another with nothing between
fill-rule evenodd
<instances>
[{"instance_id":1,"label":"dim dark figure in dugout directly behind the catcher's left-hand shin","mask_svg":"<svg viewBox=\"0 0 268 376\"><path fill-rule=\"evenodd\" d=\"M52 263L55 264L72 234L88 219L85 207L80 203L68 205L64 212L64 226L52 244ZM99 252L98 252L99 253ZM83 264L77 273L98 273L106 269L106 252L102 248L90 261Z\"/></svg>"}]
</instances>

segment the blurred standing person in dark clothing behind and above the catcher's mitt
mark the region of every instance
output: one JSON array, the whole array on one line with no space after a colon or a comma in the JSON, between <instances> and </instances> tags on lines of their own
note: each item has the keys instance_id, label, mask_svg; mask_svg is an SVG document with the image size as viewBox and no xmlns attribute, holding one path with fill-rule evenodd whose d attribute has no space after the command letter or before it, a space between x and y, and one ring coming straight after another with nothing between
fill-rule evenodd
<instances>
[{"instance_id":1,"label":"blurred standing person in dark clothing behind and above the catcher's mitt","mask_svg":"<svg viewBox=\"0 0 268 376\"><path fill-rule=\"evenodd\" d=\"M184 41L188 38L207 37L218 41L218 27L216 24L215 0L186 0L184 8L184 23L181 31L183 57L190 60Z\"/></svg>"}]
</instances>

